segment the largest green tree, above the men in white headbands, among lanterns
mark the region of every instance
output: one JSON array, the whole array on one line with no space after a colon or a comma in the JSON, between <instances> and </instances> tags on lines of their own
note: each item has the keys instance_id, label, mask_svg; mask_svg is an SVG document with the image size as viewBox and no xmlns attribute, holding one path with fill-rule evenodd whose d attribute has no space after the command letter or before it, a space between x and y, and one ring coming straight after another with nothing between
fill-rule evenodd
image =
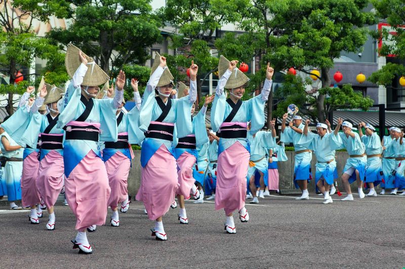
<instances>
[{"instance_id":1,"label":"largest green tree, above the men in white headbands, among lanterns","mask_svg":"<svg viewBox=\"0 0 405 269\"><path fill-rule=\"evenodd\" d=\"M228 40L246 47L234 49L236 57L254 51L262 65L271 62L276 70L295 67L309 74L308 67L317 68L322 87L329 88L333 60L341 51L359 51L367 40L365 27L375 22L374 14L364 11L368 5L368 0L257 0L242 11L239 27L245 33L230 33ZM217 45L225 50L228 44ZM261 78L254 81L264 79L263 72L257 75ZM326 95L319 91L311 97L315 99L316 118L324 121Z\"/></svg>"}]
</instances>

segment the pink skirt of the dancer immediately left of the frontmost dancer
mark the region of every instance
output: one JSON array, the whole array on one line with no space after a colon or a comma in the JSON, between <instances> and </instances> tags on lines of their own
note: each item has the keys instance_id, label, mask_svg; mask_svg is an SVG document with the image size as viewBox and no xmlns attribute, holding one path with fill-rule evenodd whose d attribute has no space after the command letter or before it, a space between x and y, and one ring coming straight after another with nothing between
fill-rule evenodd
<instances>
[{"instance_id":1,"label":"pink skirt of the dancer immediately left of the frontmost dancer","mask_svg":"<svg viewBox=\"0 0 405 269\"><path fill-rule=\"evenodd\" d=\"M54 206L63 187L63 156L51 150L39 163L36 187L47 207Z\"/></svg>"}]
</instances>

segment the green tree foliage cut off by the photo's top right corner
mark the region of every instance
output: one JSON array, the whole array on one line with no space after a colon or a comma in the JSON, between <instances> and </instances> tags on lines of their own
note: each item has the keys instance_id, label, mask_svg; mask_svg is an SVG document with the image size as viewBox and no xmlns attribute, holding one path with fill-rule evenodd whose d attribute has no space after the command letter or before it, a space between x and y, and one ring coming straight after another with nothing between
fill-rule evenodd
<instances>
[{"instance_id":1,"label":"green tree foliage cut off by the photo's top right corner","mask_svg":"<svg viewBox=\"0 0 405 269\"><path fill-rule=\"evenodd\" d=\"M405 60L405 5L401 0L373 0L377 16L386 20L396 32L390 35L387 29L374 32L373 36L377 40L384 40L382 47L379 49L380 56L395 55L398 62ZM387 63L377 72L374 72L368 80L390 87L395 78L405 76L405 67L402 64Z\"/></svg>"}]
</instances>

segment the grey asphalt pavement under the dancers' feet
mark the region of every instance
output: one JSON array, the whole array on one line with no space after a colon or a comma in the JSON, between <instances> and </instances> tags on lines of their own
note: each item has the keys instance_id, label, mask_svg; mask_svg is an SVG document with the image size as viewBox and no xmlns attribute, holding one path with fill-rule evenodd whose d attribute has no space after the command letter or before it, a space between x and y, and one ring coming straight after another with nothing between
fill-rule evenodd
<instances>
[{"instance_id":1,"label":"grey asphalt pavement under the dancers' feet","mask_svg":"<svg viewBox=\"0 0 405 269\"><path fill-rule=\"evenodd\" d=\"M335 199L338 196L334 195ZM88 234L91 255L72 249L74 216L56 206L56 230L47 231L47 214L30 225L27 211L0 210L2 268L400 268L405 265L403 238L405 197L335 200L323 205L320 196L308 201L271 196L247 204L251 220L235 218L237 234L223 228L224 213L213 202L187 202L189 225L180 225L178 208L164 218L169 240L150 236L153 222L143 205L133 202L120 214L120 227L102 226ZM248 200L249 201L249 200ZM0 209L7 209L1 206ZM109 218L109 217L108 217Z\"/></svg>"}]
</instances>

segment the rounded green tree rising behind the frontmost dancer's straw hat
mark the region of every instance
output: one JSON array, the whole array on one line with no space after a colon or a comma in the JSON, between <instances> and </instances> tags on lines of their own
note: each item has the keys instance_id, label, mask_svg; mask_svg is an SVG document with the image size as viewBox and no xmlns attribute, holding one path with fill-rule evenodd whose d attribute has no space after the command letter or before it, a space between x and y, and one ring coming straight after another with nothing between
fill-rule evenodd
<instances>
[{"instance_id":1,"label":"rounded green tree rising behind the frontmost dancer's straw hat","mask_svg":"<svg viewBox=\"0 0 405 269\"><path fill-rule=\"evenodd\" d=\"M108 74L113 67L143 64L149 48L161 39L159 18L150 0L70 0L76 6L68 29L55 29L49 37L78 45L85 53L100 59Z\"/></svg>"}]
</instances>

